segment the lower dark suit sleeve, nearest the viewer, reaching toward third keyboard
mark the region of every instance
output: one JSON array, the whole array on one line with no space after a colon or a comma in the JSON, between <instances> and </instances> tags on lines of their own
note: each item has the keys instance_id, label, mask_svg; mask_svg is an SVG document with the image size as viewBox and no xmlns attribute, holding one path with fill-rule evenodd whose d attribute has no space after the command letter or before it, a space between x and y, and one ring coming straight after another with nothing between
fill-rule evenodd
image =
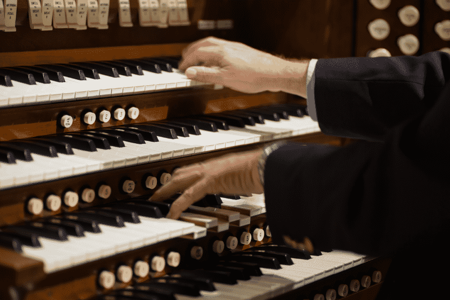
<instances>
[{"instance_id":1,"label":"lower dark suit sleeve, nearest the viewer, reaching toward third keyboard","mask_svg":"<svg viewBox=\"0 0 450 300\"><path fill-rule=\"evenodd\" d=\"M323 86L317 84L316 88ZM353 86L349 83L347 88ZM328 92L335 94L332 86ZM434 99L427 98L428 109L422 107L423 98L413 101L413 106L420 107L418 111L423 110L421 114L383 118L377 114L383 122L373 120L377 119L374 112L365 112L373 105L356 112L353 109L355 115L372 116L372 125L389 120L391 125L384 127L381 142L359 141L347 147L289 144L272 152L264 182L275 242L283 242L283 234L298 241L308 236L318 249L374 256L391 256L423 245L444 247L436 246L436 241L445 241L443 236L450 229L450 81L434 93L438 93ZM411 102L400 98L377 101L389 106L396 106L389 101L400 101L404 109ZM317 115L323 120L321 108L318 106ZM350 118L344 108L335 109L337 116ZM365 126L360 117L348 125L329 112L326 115L332 118L326 122L330 127L337 123L332 133L361 133L358 126ZM376 128L378 125L365 126Z\"/></svg>"}]
</instances>

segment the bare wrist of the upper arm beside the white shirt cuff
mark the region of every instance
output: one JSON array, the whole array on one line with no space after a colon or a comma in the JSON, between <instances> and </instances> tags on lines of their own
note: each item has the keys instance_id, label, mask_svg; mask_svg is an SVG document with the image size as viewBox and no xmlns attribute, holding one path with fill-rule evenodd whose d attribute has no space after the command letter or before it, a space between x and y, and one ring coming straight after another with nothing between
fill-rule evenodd
<instances>
[{"instance_id":1,"label":"bare wrist of the upper arm beside the white shirt cuff","mask_svg":"<svg viewBox=\"0 0 450 300\"><path fill-rule=\"evenodd\" d=\"M277 80L280 91L306 98L306 75L309 60L303 62L286 61Z\"/></svg>"}]
</instances>

